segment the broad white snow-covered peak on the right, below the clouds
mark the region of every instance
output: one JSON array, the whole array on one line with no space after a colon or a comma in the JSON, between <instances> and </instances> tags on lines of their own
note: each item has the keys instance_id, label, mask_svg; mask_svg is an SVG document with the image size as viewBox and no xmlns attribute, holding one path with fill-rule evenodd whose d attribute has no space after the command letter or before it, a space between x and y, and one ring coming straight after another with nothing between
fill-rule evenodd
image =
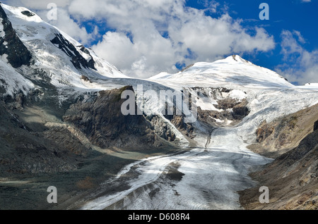
<instances>
[{"instance_id":1,"label":"broad white snow-covered peak on the right, below the clouds","mask_svg":"<svg viewBox=\"0 0 318 224\"><path fill-rule=\"evenodd\" d=\"M160 73L150 78L155 82L171 82L196 86L293 87L278 73L233 55L210 62L198 62L176 74Z\"/></svg>"}]
</instances>

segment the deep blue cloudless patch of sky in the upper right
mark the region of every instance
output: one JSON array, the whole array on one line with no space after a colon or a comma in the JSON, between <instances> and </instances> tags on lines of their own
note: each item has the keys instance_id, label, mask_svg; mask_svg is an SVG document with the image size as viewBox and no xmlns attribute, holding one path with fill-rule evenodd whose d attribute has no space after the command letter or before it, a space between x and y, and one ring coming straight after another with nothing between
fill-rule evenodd
<instances>
[{"instance_id":1,"label":"deep blue cloudless patch of sky in the upper right","mask_svg":"<svg viewBox=\"0 0 318 224\"><path fill-rule=\"evenodd\" d=\"M221 1L220 1L221 2ZM225 1L222 1L225 2ZM259 4L265 2L269 4L269 20L259 20ZM245 58L260 66L275 69L276 66L283 63L281 54L281 32L283 30L297 30L305 39L302 46L308 51L318 49L318 1L302 2L296 1L226 1L229 6L229 14L232 18L242 18L246 26L261 26L273 35L276 42L276 48L272 51L259 54L257 58L246 54ZM318 74L317 74L318 76Z\"/></svg>"}]
</instances>

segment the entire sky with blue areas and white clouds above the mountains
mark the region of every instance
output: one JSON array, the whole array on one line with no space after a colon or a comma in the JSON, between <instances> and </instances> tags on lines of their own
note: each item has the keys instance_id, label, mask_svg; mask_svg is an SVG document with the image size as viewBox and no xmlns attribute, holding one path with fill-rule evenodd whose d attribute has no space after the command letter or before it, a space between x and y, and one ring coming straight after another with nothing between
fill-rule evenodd
<instances>
[{"instance_id":1,"label":"entire sky with blue areas and white clouds above the mountains","mask_svg":"<svg viewBox=\"0 0 318 224\"><path fill-rule=\"evenodd\" d=\"M44 20L48 1L10 0ZM47 20L127 75L239 54L294 84L318 82L318 0L55 0ZM269 4L269 20L259 5Z\"/></svg>"}]
</instances>

